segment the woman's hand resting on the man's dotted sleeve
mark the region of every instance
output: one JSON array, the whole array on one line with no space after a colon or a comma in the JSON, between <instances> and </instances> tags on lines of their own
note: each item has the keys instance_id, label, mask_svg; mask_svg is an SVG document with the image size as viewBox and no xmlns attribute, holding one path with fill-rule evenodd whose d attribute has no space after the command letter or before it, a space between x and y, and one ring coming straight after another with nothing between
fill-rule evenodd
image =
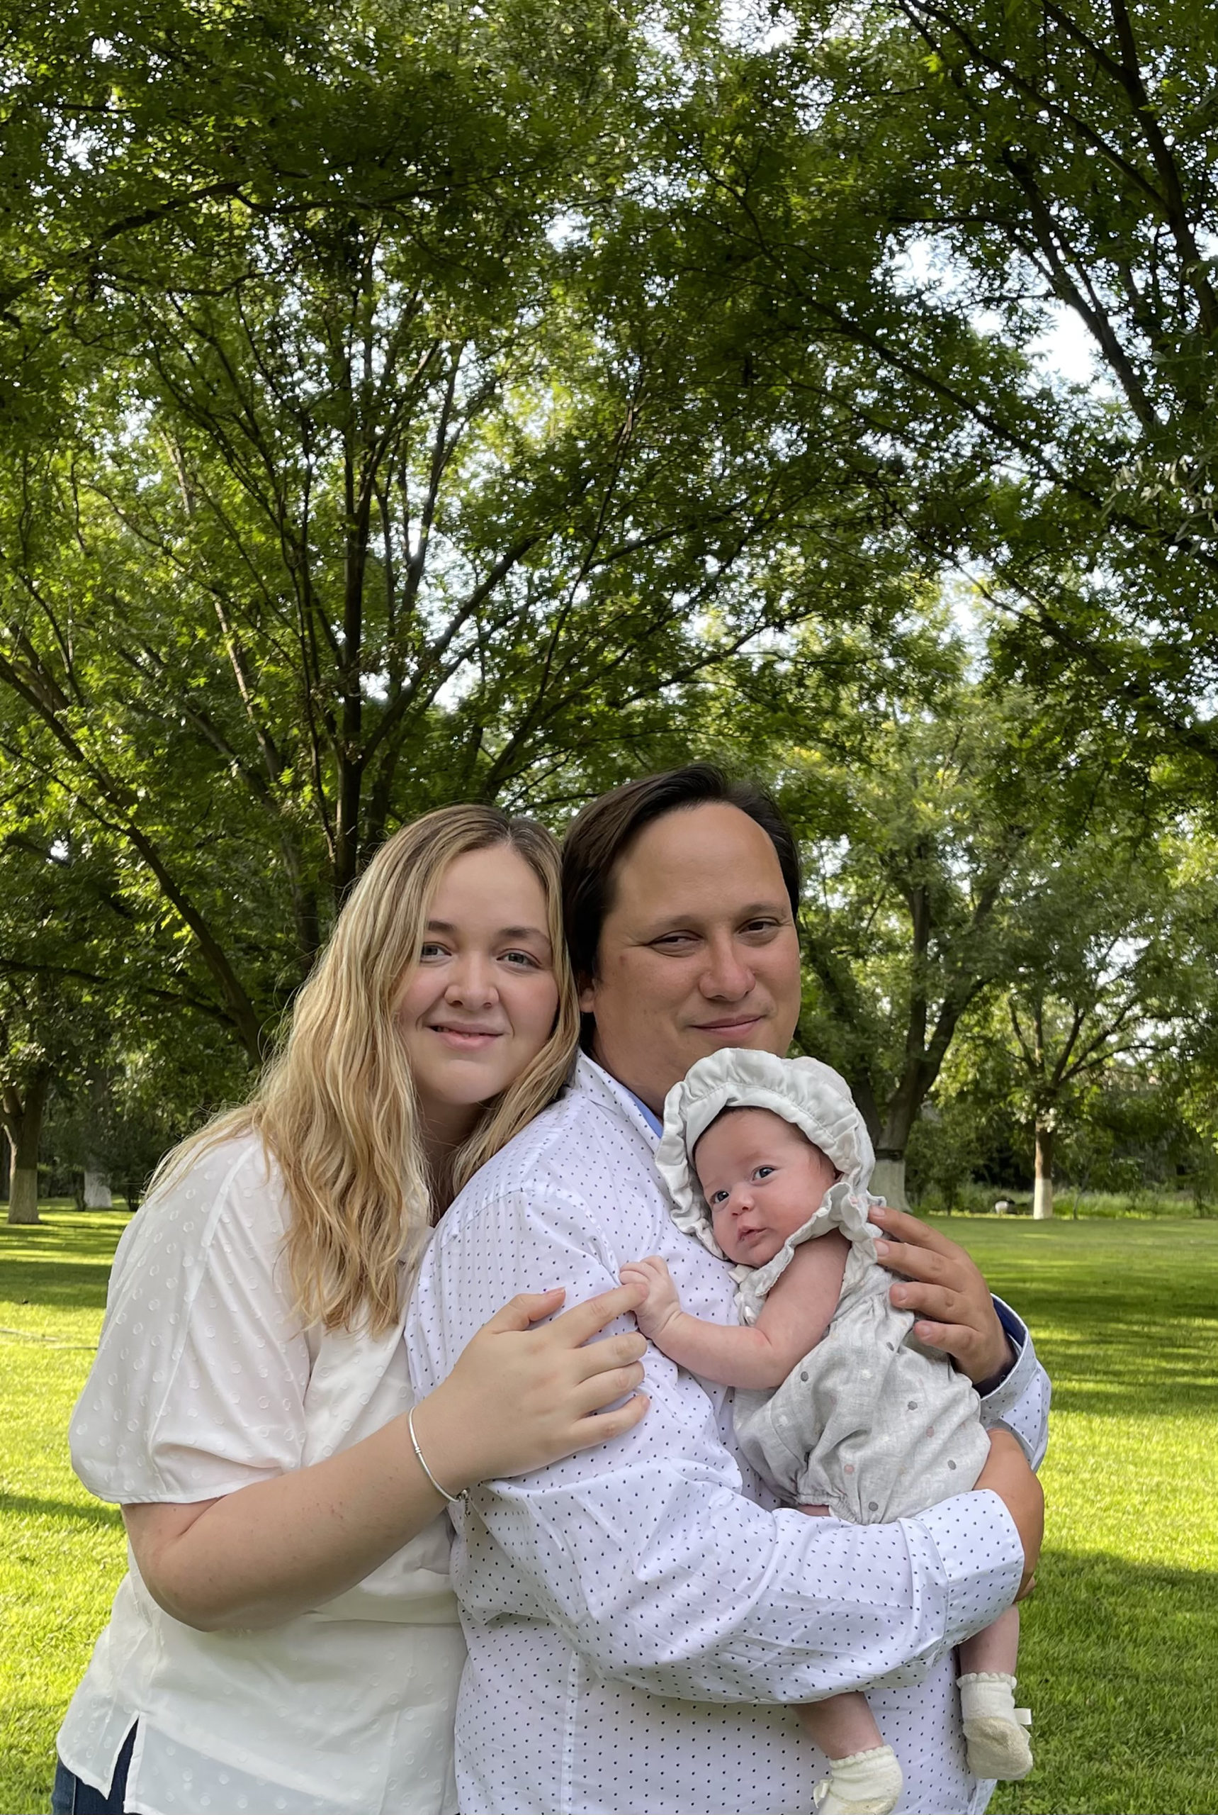
<instances>
[{"instance_id":1,"label":"woman's hand resting on the man's dotted sleeve","mask_svg":"<svg viewBox=\"0 0 1218 1815\"><path fill-rule=\"evenodd\" d=\"M637 1330L592 1341L643 1303L641 1285L619 1285L552 1316L565 1292L521 1292L465 1345L457 1365L414 1408L414 1430L436 1479L459 1494L476 1481L528 1474L594 1443L634 1430L648 1408ZM630 1398L626 1398L630 1396ZM615 1399L624 1405L603 1410Z\"/></svg>"}]
</instances>

